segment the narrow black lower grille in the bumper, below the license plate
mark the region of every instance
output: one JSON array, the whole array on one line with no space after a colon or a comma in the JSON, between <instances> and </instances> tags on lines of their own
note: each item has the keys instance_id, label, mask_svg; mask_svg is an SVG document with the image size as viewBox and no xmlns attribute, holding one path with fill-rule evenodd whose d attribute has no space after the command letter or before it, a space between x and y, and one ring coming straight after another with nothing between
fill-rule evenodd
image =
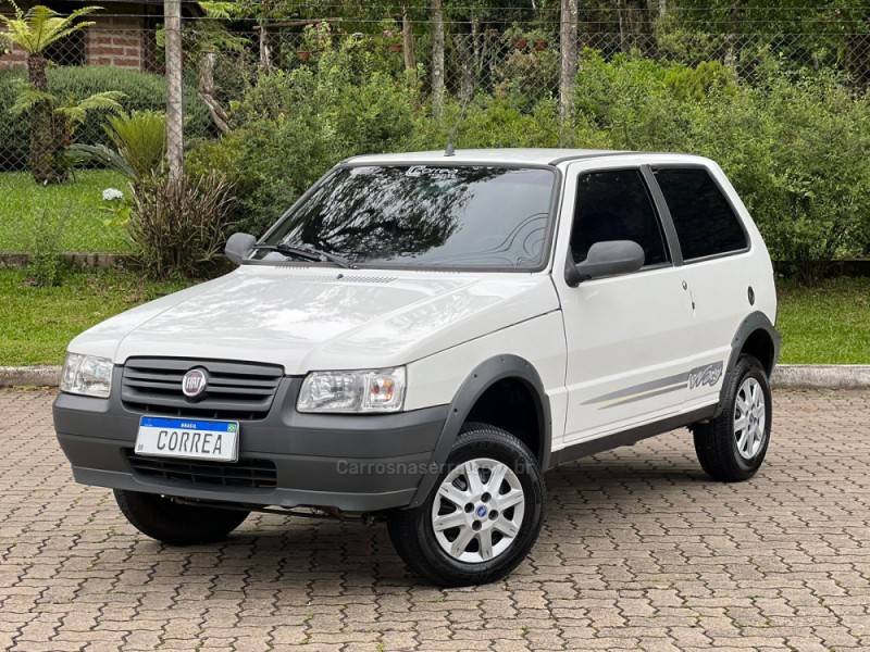
<instances>
[{"instance_id":1,"label":"narrow black lower grille in the bumper, below the license plate","mask_svg":"<svg viewBox=\"0 0 870 652\"><path fill-rule=\"evenodd\" d=\"M239 460L228 462L198 462L146 457L127 450L127 460L134 473L165 480L211 485L220 487L247 487L269 489L277 485L275 463L269 460Z\"/></svg>"}]
</instances>

